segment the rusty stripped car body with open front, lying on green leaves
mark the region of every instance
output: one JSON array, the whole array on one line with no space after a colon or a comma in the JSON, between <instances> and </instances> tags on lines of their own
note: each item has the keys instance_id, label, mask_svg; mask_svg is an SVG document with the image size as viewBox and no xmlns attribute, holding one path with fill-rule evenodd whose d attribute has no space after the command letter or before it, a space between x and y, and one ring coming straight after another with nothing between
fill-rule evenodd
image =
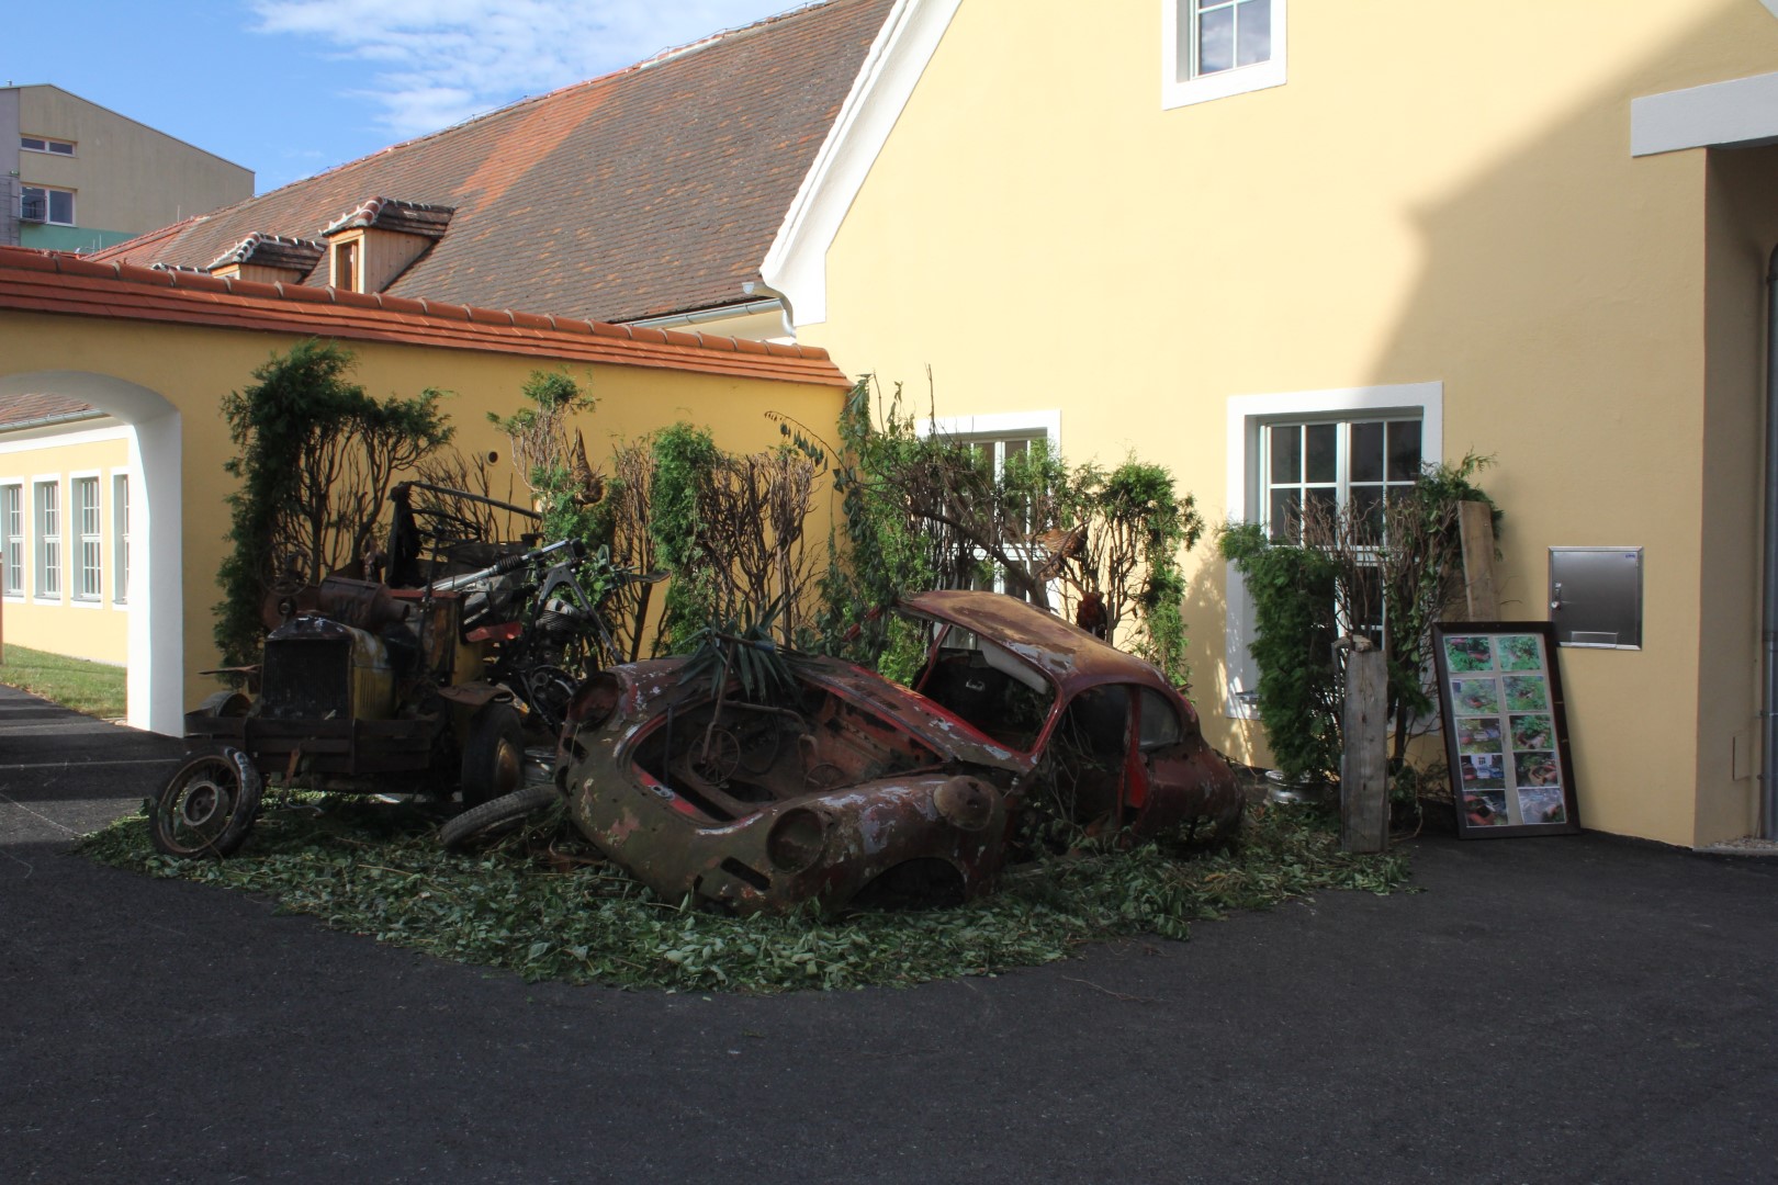
<instances>
[{"instance_id":1,"label":"rusty stripped car body with open front, lying on green leaves","mask_svg":"<svg viewBox=\"0 0 1778 1185\"><path fill-rule=\"evenodd\" d=\"M1154 666L997 593L900 611L932 638L912 688L805 656L756 702L683 657L592 675L557 760L574 824L661 897L745 913L976 897L1042 808L1134 837L1239 821Z\"/></svg>"}]
</instances>

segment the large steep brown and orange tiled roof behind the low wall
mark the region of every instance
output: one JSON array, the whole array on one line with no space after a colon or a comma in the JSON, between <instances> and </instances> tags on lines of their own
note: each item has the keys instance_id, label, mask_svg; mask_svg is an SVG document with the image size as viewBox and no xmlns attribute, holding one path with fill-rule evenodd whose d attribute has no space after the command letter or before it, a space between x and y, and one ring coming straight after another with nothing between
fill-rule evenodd
<instances>
[{"instance_id":1,"label":"large steep brown and orange tiled roof behind the low wall","mask_svg":"<svg viewBox=\"0 0 1778 1185\"><path fill-rule=\"evenodd\" d=\"M96 252L204 266L373 197L448 206L389 295L613 322L738 304L893 0L827 0Z\"/></svg>"}]
</instances>

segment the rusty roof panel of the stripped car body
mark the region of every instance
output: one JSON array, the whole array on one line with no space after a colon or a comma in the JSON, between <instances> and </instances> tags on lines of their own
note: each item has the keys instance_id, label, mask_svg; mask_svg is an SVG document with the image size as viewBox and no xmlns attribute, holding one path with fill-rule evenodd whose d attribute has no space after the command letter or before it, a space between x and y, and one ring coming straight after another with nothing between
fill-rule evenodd
<instances>
[{"instance_id":1,"label":"rusty roof panel of the stripped car body","mask_svg":"<svg viewBox=\"0 0 1778 1185\"><path fill-rule=\"evenodd\" d=\"M1017 597L948 588L903 597L901 609L1001 643L1058 684L1063 695L1102 682L1134 682L1172 691L1166 677L1149 663Z\"/></svg>"}]
</instances>

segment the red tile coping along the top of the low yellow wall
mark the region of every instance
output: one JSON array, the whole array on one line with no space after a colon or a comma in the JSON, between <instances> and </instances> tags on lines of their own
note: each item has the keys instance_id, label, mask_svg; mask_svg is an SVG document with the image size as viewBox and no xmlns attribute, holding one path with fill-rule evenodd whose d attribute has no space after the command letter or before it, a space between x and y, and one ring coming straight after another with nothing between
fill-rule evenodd
<instances>
[{"instance_id":1,"label":"red tile coping along the top of the low yellow wall","mask_svg":"<svg viewBox=\"0 0 1778 1185\"><path fill-rule=\"evenodd\" d=\"M0 309L850 386L827 350L0 247Z\"/></svg>"}]
</instances>

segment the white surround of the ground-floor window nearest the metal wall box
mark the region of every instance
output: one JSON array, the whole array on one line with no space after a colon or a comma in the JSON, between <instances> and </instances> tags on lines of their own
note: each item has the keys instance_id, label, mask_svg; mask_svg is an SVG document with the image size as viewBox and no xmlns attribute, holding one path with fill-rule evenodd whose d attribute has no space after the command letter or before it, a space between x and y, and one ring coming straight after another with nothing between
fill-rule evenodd
<instances>
[{"instance_id":1,"label":"white surround of the ground-floor window nearest the metal wall box","mask_svg":"<svg viewBox=\"0 0 1778 1185\"><path fill-rule=\"evenodd\" d=\"M1278 394L1237 394L1229 398L1227 506L1230 522L1262 522L1264 508L1261 460L1264 428L1300 419L1387 419L1419 416L1421 464L1444 462L1444 382L1405 382L1378 387L1341 387L1332 391L1289 391ZM1223 714L1255 720L1250 693L1259 689L1259 668L1248 645L1253 641L1253 599L1241 585L1241 574L1227 565L1229 627L1223 654Z\"/></svg>"}]
</instances>

